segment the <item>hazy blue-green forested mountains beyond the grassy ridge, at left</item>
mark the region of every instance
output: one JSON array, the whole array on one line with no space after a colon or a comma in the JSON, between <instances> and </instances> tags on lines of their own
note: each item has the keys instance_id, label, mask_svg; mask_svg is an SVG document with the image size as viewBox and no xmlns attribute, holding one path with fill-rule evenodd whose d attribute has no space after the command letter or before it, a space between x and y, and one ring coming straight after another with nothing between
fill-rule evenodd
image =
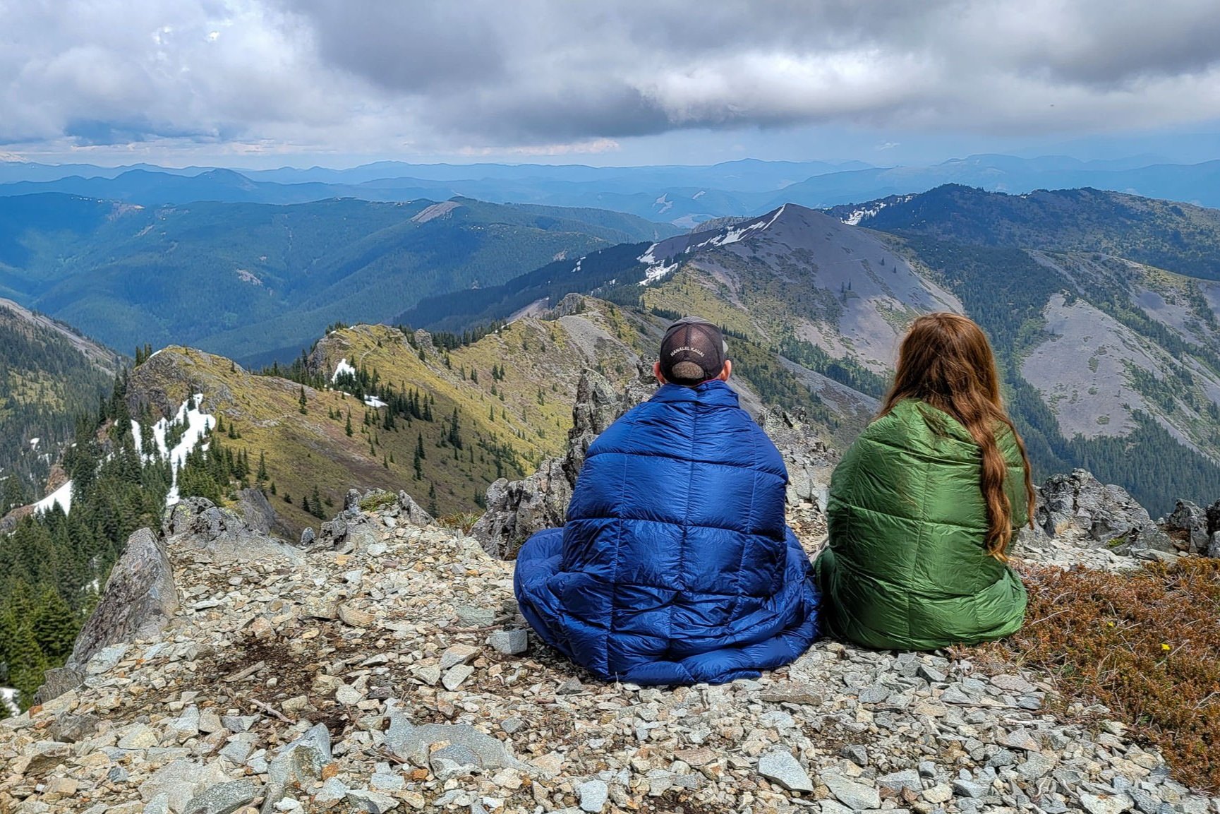
<instances>
[{"instance_id":1,"label":"hazy blue-green forested mountains beyond the grassy ridge, at left","mask_svg":"<svg viewBox=\"0 0 1220 814\"><path fill-rule=\"evenodd\" d=\"M389 320L428 294L672 231L616 212L468 199L143 207L2 198L0 294L112 347L181 343L259 361L284 348L290 358L336 319Z\"/></svg>"}]
</instances>

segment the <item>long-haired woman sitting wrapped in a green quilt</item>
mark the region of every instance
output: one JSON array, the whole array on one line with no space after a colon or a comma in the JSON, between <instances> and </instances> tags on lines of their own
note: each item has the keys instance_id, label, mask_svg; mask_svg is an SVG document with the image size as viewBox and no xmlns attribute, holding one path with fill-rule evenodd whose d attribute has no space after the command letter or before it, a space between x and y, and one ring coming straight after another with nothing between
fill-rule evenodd
<instances>
[{"instance_id":1,"label":"long-haired woman sitting wrapped in a green quilt","mask_svg":"<svg viewBox=\"0 0 1220 814\"><path fill-rule=\"evenodd\" d=\"M1025 586L1008 549L1032 510L987 337L964 316L919 317L881 412L831 478L824 630L900 650L1017 631Z\"/></svg>"}]
</instances>

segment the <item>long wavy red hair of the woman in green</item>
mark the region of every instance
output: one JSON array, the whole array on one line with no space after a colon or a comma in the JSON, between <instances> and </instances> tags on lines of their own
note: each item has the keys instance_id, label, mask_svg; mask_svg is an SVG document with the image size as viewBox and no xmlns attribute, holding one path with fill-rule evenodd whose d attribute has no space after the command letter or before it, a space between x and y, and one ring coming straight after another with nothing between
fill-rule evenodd
<instances>
[{"instance_id":1,"label":"long wavy red hair of the woman in green","mask_svg":"<svg viewBox=\"0 0 1220 814\"><path fill-rule=\"evenodd\" d=\"M956 419L982 450L978 486L987 504L987 553L1008 559L1013 537L1013 506L1004 492L1008 465L996 443L996 431L1006 426L1016 439L1025 464L1025 495L1033 517L1033 481L1025 442L1004 411L999 395L996 356L982 328L956 314L926 314L916 319L898 349L894 384L877 417L903 399L926 402Z\"/></svg>"}]
</instances>

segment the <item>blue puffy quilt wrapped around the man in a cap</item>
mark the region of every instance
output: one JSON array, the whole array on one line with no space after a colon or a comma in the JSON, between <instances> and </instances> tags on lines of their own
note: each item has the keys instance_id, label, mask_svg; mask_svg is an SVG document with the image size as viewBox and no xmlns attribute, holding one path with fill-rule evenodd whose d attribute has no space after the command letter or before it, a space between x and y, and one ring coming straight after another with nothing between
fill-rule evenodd
<instances>
[{"instance_id":1,"label":"blue puffy quilt wrapped around the man in a cap","mask_svg":"<svg viewBox=\"0 0 1220 814\"><path fill-rule=\"evenodd\" d=\"M604 680L721 683L787 664L817 627L787 480L727 384L665 384L589 447L564 527L521 548L521 613Z\"/></svg>"}]
</instances>

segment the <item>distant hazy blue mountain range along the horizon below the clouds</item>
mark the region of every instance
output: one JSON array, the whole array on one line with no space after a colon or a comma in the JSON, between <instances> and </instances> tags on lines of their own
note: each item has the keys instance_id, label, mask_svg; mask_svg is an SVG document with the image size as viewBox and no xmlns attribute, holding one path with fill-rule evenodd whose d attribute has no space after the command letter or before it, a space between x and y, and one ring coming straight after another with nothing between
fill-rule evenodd
<instances>
[{"instance_id":1,"label":"distant hazy blue mountain range along the horizon below the clouds","mask_svg":"<svg viewBox=\"0 0 1220 814\"><path fill-rule=\"evenodd\" d=\"M349 170L234 171L151 165L98 167L0 162L0 196L57 192L143 205L194 201L299 204L329 198L445 200L584 206L693 227L783 203L837 206L955 183L988 192L1092 187L1220 207L1220 161L1158 164L1150 156L1080 161L974 155L931 166L742 160L712 166L414 165L379 161Z\"/></svg>"}]
</instances>

